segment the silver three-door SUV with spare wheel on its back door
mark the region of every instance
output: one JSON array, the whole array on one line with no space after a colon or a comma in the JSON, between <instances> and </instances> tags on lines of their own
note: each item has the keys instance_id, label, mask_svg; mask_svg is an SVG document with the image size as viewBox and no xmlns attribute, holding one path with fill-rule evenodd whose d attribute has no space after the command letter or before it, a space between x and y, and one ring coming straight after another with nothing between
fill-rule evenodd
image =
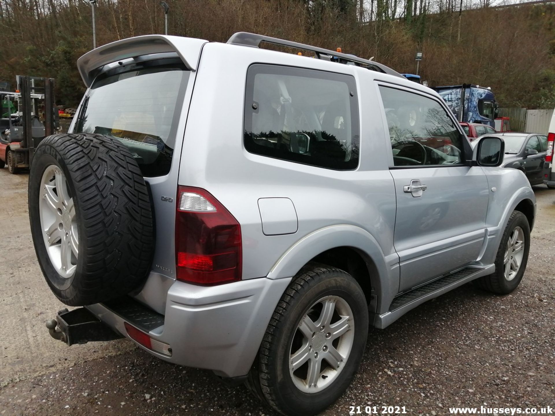
<instances>
[{"instance_id":1,"label":"silver three-door SUV with spare wheel on its back door","mask_svg":"<svg viewBox=\"0 0 555 416\"><path fill-rule=\"evenodd\" d=\"M262 49L273 43L289 51ZM433 90L250 33L147 35L78 60L87 92L29 178L73 344L125 336L286 415L345 391L369 326L474 281L512 292L536 202Z\"/></svg>"}]
</instances>

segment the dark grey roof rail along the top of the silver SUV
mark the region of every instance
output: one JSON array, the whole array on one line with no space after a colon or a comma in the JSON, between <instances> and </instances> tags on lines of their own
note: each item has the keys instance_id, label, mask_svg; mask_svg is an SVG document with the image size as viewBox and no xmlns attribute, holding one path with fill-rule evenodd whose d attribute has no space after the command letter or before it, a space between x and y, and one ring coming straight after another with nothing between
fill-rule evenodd
<instances>
[{"instance_id":1,"label":"dark grey roof rail along the top of the silver SUV","mask_svg":"<svg viewBox=\"0 0 555 416\"><path fill-rule=\"evenodd\" d=\"M231 35L231 37L228 40L228 43L230 44L251 46L255 48L258 48L260 46L260 43L262 42L274 43L276 45L288 46L290 48L310 50L311 52L314 52L316 54L316 57L318 57L319 59L326 59L326 58L331 59L332 57L337 57L337 58L341 58L340 62L341 61L353 62L355 64L364 65L364 67L367 67L368 69L371 69L371 70L375 70L377 72L383 72L385 74L390 74L390 75L397 75L398 77L401 77L401 78L403 77L397 71L389 67L386 67L386 65L382 65L380 63L374 62L373 60L362 59L362 58L356 57L355 55L350 55L350 54L341 53L341 52L334 52L333 50L330 50L330 49L318 48L315 46L306 45L304 43L291 42L290 40L272 38L270 36L264 36L264 35L259 35L256 33L248 33L248 32L237 32L234 35ZM324 55L324 57L322 57L322 55Z\"/></svg>"}]
</instances>

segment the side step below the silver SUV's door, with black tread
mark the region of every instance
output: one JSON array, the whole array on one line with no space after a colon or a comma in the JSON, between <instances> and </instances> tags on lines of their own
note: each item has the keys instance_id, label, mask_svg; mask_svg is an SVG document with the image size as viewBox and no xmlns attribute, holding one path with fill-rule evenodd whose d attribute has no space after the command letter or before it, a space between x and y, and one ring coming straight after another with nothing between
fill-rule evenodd
<instances>
[{"instance_id":1,"label":"side step below the silver SUV's door, with black tread","mask_svg":"<svg viewBox=\"0 0 555 416\"><path fill-rule=\"evenodd\" d=\"M493 273L493 271L495 271L494 265L488 267L465 267L450 275L440 277L427 285L402 293L393 298L389 312L376 316L375 326L376 328L385 328L418 305L451 291L458 286L462 286L466 282Z\"/></svg>"}]
</instances>

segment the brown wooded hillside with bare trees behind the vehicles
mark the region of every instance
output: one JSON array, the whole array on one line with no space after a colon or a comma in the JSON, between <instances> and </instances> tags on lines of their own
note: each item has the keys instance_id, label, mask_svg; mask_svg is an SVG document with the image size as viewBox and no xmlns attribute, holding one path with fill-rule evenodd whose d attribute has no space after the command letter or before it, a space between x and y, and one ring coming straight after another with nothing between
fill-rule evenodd
<instances>
[{"instance_id":1,"label":"brown wooded hillside with bare trees behind the vehicles","mask_svg":"<svg viewBox=\"0 0 555 416\"><path fill-rule=\"evenodd\" d=\"M491 87L503 107L555 106L555 2L495 0L166 0L169 34L225 42L239 31L374 56L430 86ZM538 2L536 2L538 3ZM164 32L159 0L98 0L97 45ZM57 103L84 92L75 62L92 49L84 0L0 0L0 80L57 80Z\"/></svg>"}]
</instances>

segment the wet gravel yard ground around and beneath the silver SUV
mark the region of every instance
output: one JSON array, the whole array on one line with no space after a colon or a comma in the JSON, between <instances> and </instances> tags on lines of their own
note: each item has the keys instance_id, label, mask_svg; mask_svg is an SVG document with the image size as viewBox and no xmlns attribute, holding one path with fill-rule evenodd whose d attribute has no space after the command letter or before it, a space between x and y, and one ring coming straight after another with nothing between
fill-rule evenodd
<instances>
[{"instance_id":1,"label":"wet gravel yard ground around and beneath the silver SUV","mask_svg":"<svg viewBox=\"0 0 555 416\"><path fill-rule=\"evenodd\" d=\"M0 182L7 176L0 171ZM9 192L2 185L4 202L26 205L25 176L9 182ZM534 191L537 221L519 288L499 297L465 285L371 329L359 373L324 414L347 415L351 405L406 406L409 415L449 414L454 406L555 407L555 191ZM1 264L16 265L9 248L24 254L26 266L0 271L1 415L276 414L243 386L165 363L128 341L65 347L49 338L43 322L60 305L32 259L26 210L0 210L0 226L12 224L19 236L0 246Z\"/></svg>"}]
</instances>

